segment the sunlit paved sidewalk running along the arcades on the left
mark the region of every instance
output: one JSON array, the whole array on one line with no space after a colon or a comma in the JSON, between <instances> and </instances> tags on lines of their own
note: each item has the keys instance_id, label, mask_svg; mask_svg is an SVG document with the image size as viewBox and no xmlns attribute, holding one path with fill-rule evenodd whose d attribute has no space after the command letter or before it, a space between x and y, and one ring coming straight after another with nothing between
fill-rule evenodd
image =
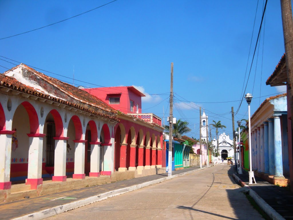
<instances>
[{"instance_id":1,"label":"sunlit paved sidewalk running along the arcades on the left","mask_svg":"<svg viewBox=\"0 0 293 220\"><path fill-rule=\"evenodd\" d=\"M203 166L206 167L206 166ZM198 167L190 167L182 170L172 171L172 175L185 173L188 171L198 170ZM54 194L34 197L29 199L22 199L13 202L6 202L0 204L0 219L13 219L37 211L42 211L56 206L62 206L74 201L80 201L88 197L96 196L109 191L131 187L145 182L159 180L166 178L168 173L157 174L145 177L133 178L130 180L121 180L118 182L107 183L103 185L96 185L82 189L74 189L65 192L58 192Z\"/></svg>"}]
</instances>

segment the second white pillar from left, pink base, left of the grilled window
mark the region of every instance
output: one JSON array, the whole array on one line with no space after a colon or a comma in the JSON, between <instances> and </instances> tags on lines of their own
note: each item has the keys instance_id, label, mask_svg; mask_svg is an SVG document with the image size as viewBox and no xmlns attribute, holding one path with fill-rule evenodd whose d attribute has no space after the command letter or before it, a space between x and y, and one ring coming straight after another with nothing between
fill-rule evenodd
<instances>
[{"instance_id":1,"label":"second white pillar from left, pink base, left of the grilled window","mask_svg":"<svg viewBox=\"0 0 293 220\"><path fill-rule=\"evenodd\" d=\"M25 185L30 185L31 189L37 189L38 185L43 184L42 179L42 155L43 138L46 134L28 134L28 178Z\"/></svg>"}]
</instances>

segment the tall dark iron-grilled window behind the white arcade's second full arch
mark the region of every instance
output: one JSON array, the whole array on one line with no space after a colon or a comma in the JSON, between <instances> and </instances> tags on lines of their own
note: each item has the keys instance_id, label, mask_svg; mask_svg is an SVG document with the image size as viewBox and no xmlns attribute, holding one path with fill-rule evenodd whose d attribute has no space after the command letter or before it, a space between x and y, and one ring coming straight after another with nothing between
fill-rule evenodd
<instances>
[{"instance_id":1,"label":"tall dark iron-grilled window behind the white arcade's second full arch","mask_svg":"<svg viewBox=\"0 0 293 220\"><path fill-rule=\"evenodd\" d=\"M46 133L46 166L54 166L54 149L55 141L53 137L56 136L55 123L47 122L47 133Z\"/></svg>"}]
</instances>

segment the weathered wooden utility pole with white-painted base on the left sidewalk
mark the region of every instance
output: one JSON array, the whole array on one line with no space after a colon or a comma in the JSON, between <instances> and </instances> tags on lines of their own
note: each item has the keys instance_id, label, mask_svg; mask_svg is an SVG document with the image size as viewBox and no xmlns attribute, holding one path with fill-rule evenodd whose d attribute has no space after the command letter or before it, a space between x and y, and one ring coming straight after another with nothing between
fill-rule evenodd
<instances>
[{"instance_id":1,"label":"weathered wooden utility pole with white-painted base on the left sidewalk","mask_svg":"<svg viewBox=\"0 0 293 220\"><path fill-rule=\"evenodd\" d=\"M172 141L173 141L172 132L173 132L173 63L171 63L168 177L172 176Z\"/></svg>"}]
</instances>

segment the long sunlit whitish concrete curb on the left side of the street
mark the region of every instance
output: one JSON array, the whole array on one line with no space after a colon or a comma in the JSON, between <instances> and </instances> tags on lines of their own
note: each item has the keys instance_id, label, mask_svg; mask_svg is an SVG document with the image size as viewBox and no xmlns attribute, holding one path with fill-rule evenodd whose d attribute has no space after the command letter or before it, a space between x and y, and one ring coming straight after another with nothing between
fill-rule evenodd
<instances>
[{"instance_id":1,"label":"long sunlit whitish concrete curb on the left side of the street","mask_svg":"<svg viewBox=\"0 0 293 220\"><path fill-rule=\"evenodd\" d=\"M208 166L208 167L211 167L211 166ZM163 178L160 178L158 180L152 180L152 181L149 181L149 182L144 182L144 183L134 185L134 186L131 186L131 187L125 187L125 188L122 188L122 189L115 189L113 191L109 191L109 192L105 192L105 193L98 194L98 195L95 195L95 196L91 196L91 197L88 197L86 199L81 199L81 200L78 200L78 201L75 201L75 202L55 206L55 207L52 207L52 208L49 208L49 209L45 209L45 210L42 210L42 211L37 211L37 212L31 213L31 214L27 214L27 215L24 215L24 216L21 216L21 217L17 217L17 218L14 218L13 220L24 220L24 219L39 220L39 219L49 218L49 217L54 216L54 215L58 215L58 214L61 214L61 213L64 213L64 212L67 212L67 211L70 211L70 210L73 210L73 209L77 209L77 208L80 208L80 207L83 207L83 206L86 206L86 205L89 205L89 204L92 204L92 203L95 203L95 202L103 201L105 199L109 199L109 198L112 198L112 197L115 197L115 196L118 196L118 195L121 195L121 194L124 194L124 193L127 193L127 192L131 192L131 191L134 191L136 189L141 189L141 188L151 186L151 185L154 185L154 184L157 184L157 183L160 183L160 182L164 182L166 180L171 180L171 179L173 179L175 177L179 177L179 176L186 175L186 174L189 174L189 173L192 173L192 172L203 170L203 169L206 169L208 167L202 167L202 168L199 168L197 170L190 170L188 172L176 174L176 175L173 175L171 177L163 177Z\"/></svg>"}]
</instances>

